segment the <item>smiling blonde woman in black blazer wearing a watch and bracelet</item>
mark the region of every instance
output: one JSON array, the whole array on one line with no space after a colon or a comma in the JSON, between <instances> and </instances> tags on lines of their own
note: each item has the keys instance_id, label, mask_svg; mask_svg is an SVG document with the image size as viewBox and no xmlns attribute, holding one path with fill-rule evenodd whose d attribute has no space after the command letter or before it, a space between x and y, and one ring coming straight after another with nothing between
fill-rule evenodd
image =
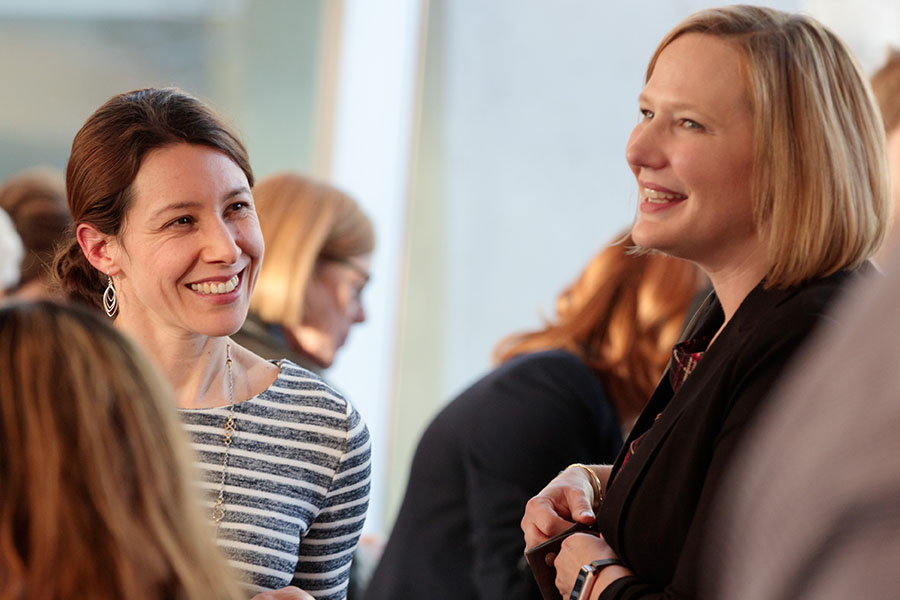
<instances>
[{"instance_id":1,"label":"smiling blonde woman in black blazer wearing a watch and bracelet","mask_svg":"<svg viewBox=\"0 0 900 600\"><path fill-rule=\"evenodd\" d=\"M697 264L714 293L615 463L567 469L529 501L529 546L596 516L601 536L570 536L554 563L559 592L591 600L697 596L709 508L745 426L832 300L871 270L890 218L867 78L809 16L689 16L652 56L638 107L632 237Z\"/></svg>"}]
</instances>

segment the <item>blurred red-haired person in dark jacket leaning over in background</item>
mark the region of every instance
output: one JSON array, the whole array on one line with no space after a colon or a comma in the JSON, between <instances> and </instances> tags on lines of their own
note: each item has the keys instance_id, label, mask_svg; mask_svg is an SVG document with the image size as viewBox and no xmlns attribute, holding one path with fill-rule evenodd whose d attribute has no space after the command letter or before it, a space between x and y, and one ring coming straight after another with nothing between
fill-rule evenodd
<instances>
[{"instance_id":1,"label":"blurred red-haired person in dark jacket leaning over in background","mask_svg":"<svg viewBox=\"0 0 900 600\"><path fill-rule=\"evenodd\" d=\"M567 465L615 457L700 284L622 237L425 431L367 600L541 597L521 564L525 502Z\"/></svg>"}]
</instances>

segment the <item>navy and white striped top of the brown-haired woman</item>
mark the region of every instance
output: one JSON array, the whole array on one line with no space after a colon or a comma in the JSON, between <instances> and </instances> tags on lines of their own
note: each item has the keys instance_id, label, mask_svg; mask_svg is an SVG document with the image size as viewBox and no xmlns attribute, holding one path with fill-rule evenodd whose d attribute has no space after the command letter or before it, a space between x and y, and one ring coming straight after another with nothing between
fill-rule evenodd
<instances>
[{"instance_id":1,"label":"navy and white striped top of the brown-haired woman","mask_svg":"<svg viewBox=\"0 0 900 600\"><path fill-rule=\"evenodd\" d=\"M287 360L279 365L267 390L235 405L219 545L254 594L296 585L343 599L369 503L369 432L319 376ZM180 411L210 511L228 411Z\"/></svg>"}]
</instances>

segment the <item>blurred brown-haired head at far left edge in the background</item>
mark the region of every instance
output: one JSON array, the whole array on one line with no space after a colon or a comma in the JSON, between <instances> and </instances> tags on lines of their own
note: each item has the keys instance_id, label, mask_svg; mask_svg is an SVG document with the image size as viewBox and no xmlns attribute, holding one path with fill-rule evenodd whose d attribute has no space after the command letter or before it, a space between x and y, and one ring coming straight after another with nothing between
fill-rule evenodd
<instances>
[{"instance_id":1,"label":"blurred brown-haired head at far left edge in the background","mask_svg":"<svg viewBox=\"0 0 900 600\"><path fill-rule=\"evenodd\" d=\"M22 299L53 296L53 255L72 223L62 173L38 167L14 175L0 184L0 208L9 213L25 246L13 294Z\"/></svg>"}]
</instances>

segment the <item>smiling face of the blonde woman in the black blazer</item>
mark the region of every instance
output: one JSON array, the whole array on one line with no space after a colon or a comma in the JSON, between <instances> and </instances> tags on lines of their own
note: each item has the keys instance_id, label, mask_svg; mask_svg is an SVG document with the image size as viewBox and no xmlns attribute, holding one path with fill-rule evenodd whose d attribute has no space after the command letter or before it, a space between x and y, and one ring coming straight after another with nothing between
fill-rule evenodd
<instances>
[{"instance_id":1,"label":"smiling face of the blonde woman in the black blazer","mask_svg":"<svg viewBox=\"0 0 900 600\"><path fill-rule=\"evenodd\" d=\"M711 35L676 38L639 102L642 118L626 149L640 190L634 241L707 272L764 261L751 204L753 118L738 50Z\"/></svg>"}]
</instances>

